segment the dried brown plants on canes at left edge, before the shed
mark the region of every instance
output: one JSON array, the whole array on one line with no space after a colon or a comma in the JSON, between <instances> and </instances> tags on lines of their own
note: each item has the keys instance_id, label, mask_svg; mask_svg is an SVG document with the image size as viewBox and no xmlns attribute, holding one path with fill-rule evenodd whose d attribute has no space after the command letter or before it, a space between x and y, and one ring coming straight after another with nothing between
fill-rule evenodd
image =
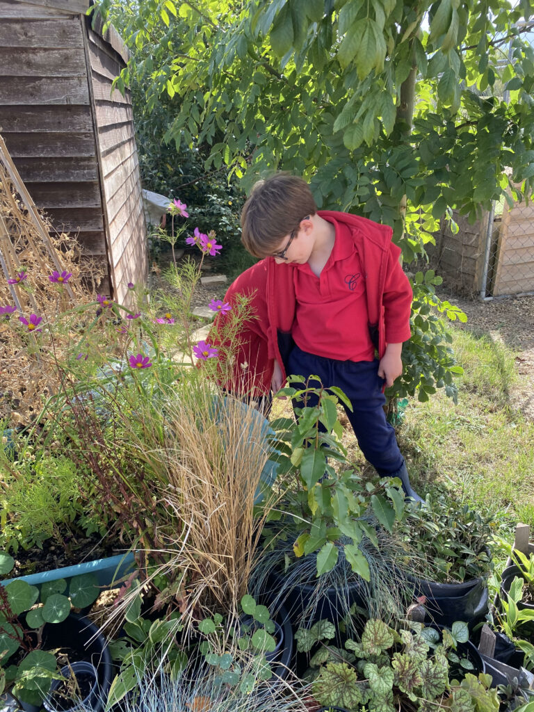
<instances>
[{"instance_id":1,"label":"dried brown plants on canes at left edge, before the shed","mask_svg":"<svg viewBox=\"0 0 534 712\"><path fill-rule=\"evenodd\" d=\"M61 356L70 334L52 342L49 325L77 303L95 298L105 275L95 259L82 256L71 236L50 235L51 224L32 214L23 184L19 189L22 193L0 161L0 307L16 308L0 314L0 419L14 425L28 424L40 410L41 397L58 390L54 359L48 361L46 350ZM62 285L61 276L69 274ZM54 275L58 281L51 281ZM29 334L27 325L19 324L20 316L30 324L31 315L41 318L40 332L35 328Z\"/></svg>"}]
</instances>

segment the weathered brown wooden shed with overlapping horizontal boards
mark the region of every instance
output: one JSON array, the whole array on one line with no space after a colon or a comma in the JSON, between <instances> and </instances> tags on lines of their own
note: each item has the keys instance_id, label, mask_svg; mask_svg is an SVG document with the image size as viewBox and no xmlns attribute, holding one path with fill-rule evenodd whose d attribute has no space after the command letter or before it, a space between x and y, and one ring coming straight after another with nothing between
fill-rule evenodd
<instances>
[{"instance_id":1,"label":"weathered brown wooden shed with overlapping horizontal boards","mask_svg":"<svg viewBox=\"0 0 534 712\"><path fill-rule=\"evenodd\" d=\"M127 50L89 0L0 0L0 133L38 208L102 261L101 292L145 282L147 240Z\"/></svg>"}]
</instances>

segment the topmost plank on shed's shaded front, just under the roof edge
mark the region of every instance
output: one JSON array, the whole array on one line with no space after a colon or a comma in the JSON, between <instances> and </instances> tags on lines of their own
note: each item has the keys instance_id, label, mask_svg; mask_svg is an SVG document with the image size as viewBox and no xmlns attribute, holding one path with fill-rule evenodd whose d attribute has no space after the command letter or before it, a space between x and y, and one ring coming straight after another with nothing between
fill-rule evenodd
<instances>
[{"instance_id":1,"label":"topmost plank on shed's shaded front, just under the roof edge","mask_svg":"<svg viewBox=\"0 0 534 712\"><path fill-rule=\"evenodd\" d=\"M0 8L2 4L0 3ZM0 9L1 16L1 9ZM80 17L43 19L3 19L0 47L83 47Z\"/></svg>"}]
</instances>

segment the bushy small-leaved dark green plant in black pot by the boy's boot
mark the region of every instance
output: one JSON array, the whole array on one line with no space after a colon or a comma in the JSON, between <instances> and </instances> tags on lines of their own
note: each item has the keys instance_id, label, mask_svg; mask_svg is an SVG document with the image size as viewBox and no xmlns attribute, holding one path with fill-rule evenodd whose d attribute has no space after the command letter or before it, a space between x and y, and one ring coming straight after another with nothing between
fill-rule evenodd
<instances>
[{"instance_id":1,"label":"bushy small-leaved dark green plant in black pot by the boy's boot","mask_svg":"<svg viewBox=\"0 0 534 712\"><path fill-rule=\"evenodd\" d=\"M491 514L482 515L449 496L427 496L424 506L407 504L397 524L404 541L426 560L426 577L441 583L488 575L493 570L488 543L496 530Z\"/></svg>"}]
</instances>

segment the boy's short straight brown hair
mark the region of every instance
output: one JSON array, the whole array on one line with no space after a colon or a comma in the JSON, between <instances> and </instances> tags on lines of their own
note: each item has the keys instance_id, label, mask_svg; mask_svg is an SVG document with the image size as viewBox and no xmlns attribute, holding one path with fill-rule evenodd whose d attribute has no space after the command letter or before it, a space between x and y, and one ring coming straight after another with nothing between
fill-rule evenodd
<instances>
[{"instance_id":1,"label":"boy's short straight brown hair","mask_svg":"<svg viewBox=\"0 0 534 712\"><path fill-rule=\"evenodd\" d=\"M266 257L300 221L317 212L303 178L276 173L258 181L241 210L241 242L254 257Z\"/></svg>"}]
</instances>

